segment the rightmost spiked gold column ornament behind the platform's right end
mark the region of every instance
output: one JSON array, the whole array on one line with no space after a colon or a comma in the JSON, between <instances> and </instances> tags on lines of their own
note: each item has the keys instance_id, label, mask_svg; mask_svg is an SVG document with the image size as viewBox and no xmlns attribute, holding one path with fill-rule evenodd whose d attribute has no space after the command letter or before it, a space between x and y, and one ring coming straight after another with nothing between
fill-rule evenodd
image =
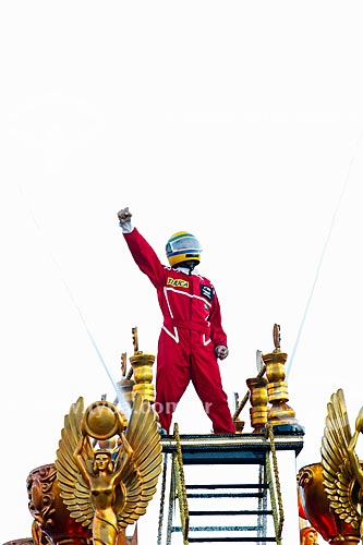
<instances>
[{"instance_id":1,"label":"rightmost spiked gold column ornament behind the platform's right end","mask_svg":"<svg viewBox=\"0 0 363 545\"><path fill-rule=\"evenodd\" d=\"M295 412L288 405L289 401L288 384L285 382L285 364L288 354L280 350L280 326L274 325L275 350L269 354L263 354L266 365L267 395L271 407L267 413L268 422L275 425L294 424Z\"/></svg>"}]
</instances>

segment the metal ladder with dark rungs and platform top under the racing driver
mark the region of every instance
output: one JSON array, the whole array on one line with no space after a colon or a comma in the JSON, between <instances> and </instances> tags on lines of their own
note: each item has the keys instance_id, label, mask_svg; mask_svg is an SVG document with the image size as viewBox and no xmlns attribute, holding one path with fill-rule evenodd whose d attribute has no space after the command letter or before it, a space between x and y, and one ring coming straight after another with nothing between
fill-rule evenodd
<instances>
[{"instance_id":1,"label":"metal ladder with dark rungs and platform top under the racing driver","mask_svg":"<svg viewBox=\"0 0 363 545\"><path fill-rule=\"evenodd\" d=\"M165 541L183 543L277 543L280 545L279 501L268 438L183 436L162 439L171 458ZM278 449L302 448L301 438L282 439ZM170 456L171 455L171 456ZM179 508L179 514L178 514ZM160 513L159 520L164 516ZM283 517L282 517L283 519Z\"/></svg>"}]
</instances>

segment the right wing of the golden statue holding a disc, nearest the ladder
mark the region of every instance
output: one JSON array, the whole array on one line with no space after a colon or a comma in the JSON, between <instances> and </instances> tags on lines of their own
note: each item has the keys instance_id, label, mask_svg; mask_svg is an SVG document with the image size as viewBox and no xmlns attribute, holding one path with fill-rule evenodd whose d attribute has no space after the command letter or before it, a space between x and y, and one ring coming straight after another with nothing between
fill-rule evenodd
<instances>
[{"instance_id":1,"label":"right wing of the golden statue holding a disc, nearest the ladder","mask_svg":"<svg viewBox=\"0 0 363 545\"><path fill-rule=\"evenodd\" d=\"M140 393L134 398L125 437L133 449L133 458L122 479L125 498L118 521L123 528L146 512L161 472L162 448L155 412Z\"/></svg>"}]
</instances>

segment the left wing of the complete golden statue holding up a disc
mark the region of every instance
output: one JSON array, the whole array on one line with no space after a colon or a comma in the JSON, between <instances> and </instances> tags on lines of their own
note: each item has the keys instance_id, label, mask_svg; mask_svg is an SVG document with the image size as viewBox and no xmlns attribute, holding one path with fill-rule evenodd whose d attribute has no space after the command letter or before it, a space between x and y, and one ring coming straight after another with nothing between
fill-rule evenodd
<instances>
[{"instance_id":1,"label":"left wing of the complete golden statue holding up a disc","mask_svg":"<svg viewBox=\"0 0 363 545\"><path fill-rule=\"evenodd\" d=\"M73 452L82 435L81 421L83 412L83 398L78 398L77 401L71 405L70 413L64 416L64 427L61 433L55 464L60 496L63 499L63 504L69 509L70 516L72 519L75 519L76 522L82 522L83 526L90 526L94 517L94 508L90 502L89 488L84 482L73 458ZM92 457L93 448L88 443L86 447L86 458L90 460Z\"/></svg>"}]
</instances>

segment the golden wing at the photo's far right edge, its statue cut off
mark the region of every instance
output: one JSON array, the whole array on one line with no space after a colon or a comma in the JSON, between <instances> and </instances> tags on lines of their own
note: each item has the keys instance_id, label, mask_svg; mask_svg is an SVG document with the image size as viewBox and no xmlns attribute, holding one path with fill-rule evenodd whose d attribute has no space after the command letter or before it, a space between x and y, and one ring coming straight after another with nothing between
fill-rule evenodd
<instances>
[{"instance_id":1,"label":"golden wing at the photo's far right edge, its statue cut off","mask_svg":"<svg viewBox=\"0 0 363 545\"><path fill-rule=\"evenodd\" d=\"M323 486L339 519L358 528L359 484L348 453L352 434L342 389L331 395L327 412L320 448Z\"/></svg>"}]
</instances>

